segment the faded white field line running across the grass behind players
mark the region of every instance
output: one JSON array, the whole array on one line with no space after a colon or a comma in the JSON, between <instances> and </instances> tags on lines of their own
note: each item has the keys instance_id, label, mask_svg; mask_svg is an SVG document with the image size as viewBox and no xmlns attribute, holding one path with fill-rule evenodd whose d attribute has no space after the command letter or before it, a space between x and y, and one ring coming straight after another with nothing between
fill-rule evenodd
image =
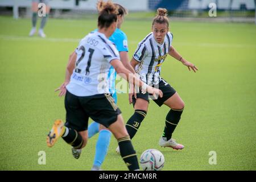
<instances>
[{"instance_id":1,"label":"faded white field line running across the grass behind players","mask_svg":"<svg viewBox=\"0 0 256 182\"><path fill-rule=\"evenodd\" d=\"M0 40L10 40L10 41L46 41L46 42L71 42L79 43L81 39L72 38L39 38L39 37L29 37L29 36L12 36L12 35L0 35ZM129 44L138 44L139 41L128 40ZM255 44L232 44L232 43L184 43L184 42L174 42L175 46L196 46L196 47L214 47L214 48L256 48Z\"/></svg>"}]
</instances>

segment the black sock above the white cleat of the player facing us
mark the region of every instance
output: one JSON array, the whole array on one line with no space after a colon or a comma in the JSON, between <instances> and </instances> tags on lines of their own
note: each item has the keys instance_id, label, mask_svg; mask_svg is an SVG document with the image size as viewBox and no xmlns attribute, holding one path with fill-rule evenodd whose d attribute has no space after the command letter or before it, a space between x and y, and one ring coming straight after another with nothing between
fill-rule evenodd
<instances>
[{"instance_id":1,"label":"black sock above the white cleat of the player facing us","mask_svg":"<svg viewBox=\"0 0 256 182\"><path fill-rule=\"evenodd\" d=\"M183 109L171 109L166 115L166 126L164 127L163 137L166 137L166 140L172 138L172 133L180 121L180 116L183 112Z\"/></svg>"}]
</instances>

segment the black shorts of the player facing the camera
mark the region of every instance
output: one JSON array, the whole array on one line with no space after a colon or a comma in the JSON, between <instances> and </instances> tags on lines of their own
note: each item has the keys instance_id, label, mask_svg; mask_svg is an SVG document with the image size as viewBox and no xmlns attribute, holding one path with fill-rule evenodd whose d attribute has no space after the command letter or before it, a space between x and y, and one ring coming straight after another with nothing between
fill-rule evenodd
<instances>
[{"instance_id":1,"label":"black shorts of the player facing the camera","mask_svg":"<svg viewBox=\"0 0 256 182\"><path fill-rule=\"evenodd\" d=\"M159 82L159 84L155 85L154 87L158 88L159 90L162 90L163 92L162 98L158 97L157 99L152 99L159 107L162 106L163 103L168 100L168 98L172 97L176 93L176 90L170 84L168 84L165 80L163 80L163 78ZM142 98L148 101L149 103L150 98L152 98L150 95L151 94L148 94L148 93L143 94L141 93L141 90L139 90L139 93L137 93L137 98ZM136 99L133 96L133 106L135 105L135 102L136 102Z\"/></svg>"}]
</instances>

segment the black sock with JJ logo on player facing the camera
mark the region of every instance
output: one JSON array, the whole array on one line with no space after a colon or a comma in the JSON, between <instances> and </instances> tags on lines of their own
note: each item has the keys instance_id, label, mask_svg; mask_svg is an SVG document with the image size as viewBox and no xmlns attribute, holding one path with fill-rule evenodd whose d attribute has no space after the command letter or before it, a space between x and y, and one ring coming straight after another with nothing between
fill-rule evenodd
<instances>
[{"instance_id":1,"label":"black sock with JJ logo on player facing the camera","mask_svg":"<svg viewBox=\"0 0 256 182\"><path fill-rule=\"evenodd\" d=\"M141 122L146 117L147 111L144 110L135 110L134 114L130 117L130 119L126 123L126 130L132 139L134 135L137 133L139 126L141 126Z\"/></svg>"}]
</instances>

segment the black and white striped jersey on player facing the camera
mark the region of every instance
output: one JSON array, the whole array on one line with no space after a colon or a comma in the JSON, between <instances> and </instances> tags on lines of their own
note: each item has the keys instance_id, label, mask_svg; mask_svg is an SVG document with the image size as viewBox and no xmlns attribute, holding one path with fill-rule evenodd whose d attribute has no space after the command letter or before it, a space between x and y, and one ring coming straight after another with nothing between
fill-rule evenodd
<instances>
[{"instance_id":1,"label":"black and white striped jersey on player facing the camera","mask_svg":"<svg viewBox=\"0 0 256 182\"><path fill-rule=\"evenodd\" d=\"M134 52L133 58L139 62L135 67L141 80L148 85L156 85L160 81L161 65L166 59L172 44L173 35L168 32L163 44L156 42L151 32L144 38Z\"/></svg>"}]
</instances>

